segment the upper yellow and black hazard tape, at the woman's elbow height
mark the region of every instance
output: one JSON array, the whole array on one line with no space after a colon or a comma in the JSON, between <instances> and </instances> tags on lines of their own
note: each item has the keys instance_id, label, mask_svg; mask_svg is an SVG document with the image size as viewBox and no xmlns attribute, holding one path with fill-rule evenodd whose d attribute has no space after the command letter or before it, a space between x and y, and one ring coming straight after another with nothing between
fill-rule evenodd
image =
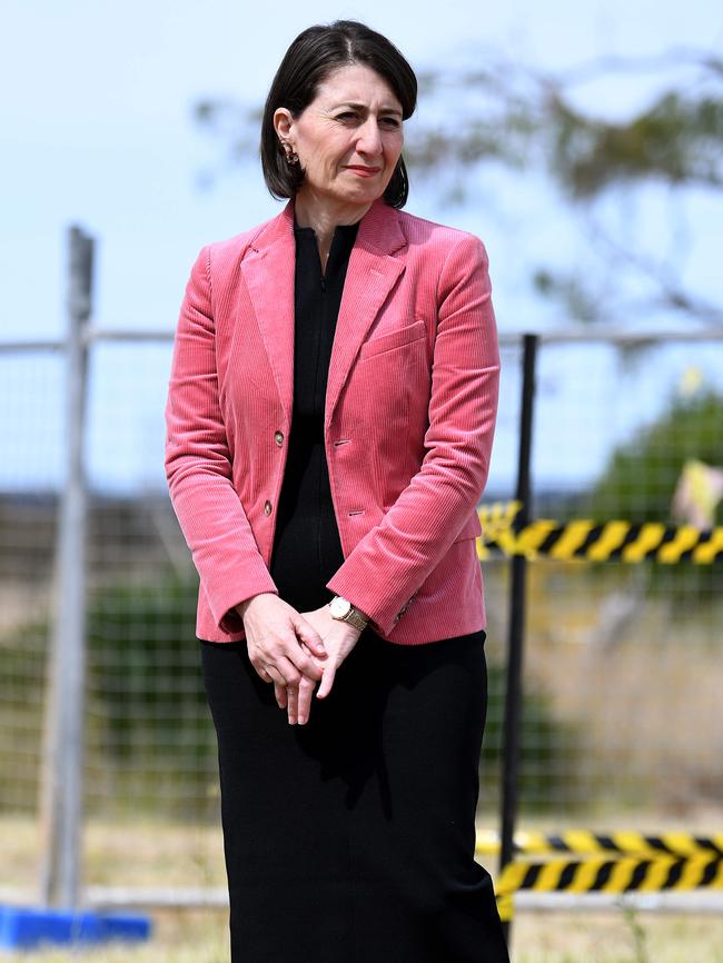
<instances>
[{"instance_id":1,"label":"upper yellow and black hazard tape, at the woman's elbow height","mask_svg":"<svg viewBox=\"0 0 723 963\"><path fill-rule=\"evenodd\" d=\"M632 564L723 562L723 526L703 530L691 525L666 526L661 522L596 523L584 518L566 523L537 518L521 526L515 523L519 508L518 502L505 502L477 509L483 529L477 538L481 560L489 558L489 549L495 547L504 555L525 555L529 559L542 555L557 560L615 558Z\"/></svg>"}]
</instances>

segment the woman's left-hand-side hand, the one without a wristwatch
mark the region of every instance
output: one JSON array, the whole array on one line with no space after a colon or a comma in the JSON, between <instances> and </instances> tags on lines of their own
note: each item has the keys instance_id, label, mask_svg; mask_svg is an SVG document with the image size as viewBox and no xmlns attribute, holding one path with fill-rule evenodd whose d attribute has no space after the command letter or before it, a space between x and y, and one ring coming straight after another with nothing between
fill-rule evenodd
<instances>
[{"instance_id":1,"label":"woman's left-hand-side hand, the one without a wristwatch","mask_svg":"<svg viewBox=\"0 0 723 963\"><path fill-rule=\"evenodd\" d=\"M306 722L314 688L324 674L311 658L326 657L321 636L273 592L247 598L236 610L244 619L251 665L264 682L274 683L279 708L288 705L289 723Z\"/></svg>"}]
</instances>

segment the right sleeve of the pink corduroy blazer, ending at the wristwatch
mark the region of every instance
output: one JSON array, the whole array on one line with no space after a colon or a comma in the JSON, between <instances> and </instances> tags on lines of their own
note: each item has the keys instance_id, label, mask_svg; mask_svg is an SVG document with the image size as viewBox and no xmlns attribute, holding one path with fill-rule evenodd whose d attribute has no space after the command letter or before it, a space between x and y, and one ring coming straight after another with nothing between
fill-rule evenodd
<instances>
[{"instance_id":1,"label":"right sleeve of the pink corduroy blazer, ending at the wristwatch","mask_svg":"<svg viewBox=\"0 0 723 963\"><path fill-rule=\"evenodd\" d=\"M476 510L489 470L499 350L487 252L479 238L464 234L449 250L436 300L424 459L382 522L327 583L385 635Z\"/></svg>"}]
</instances>

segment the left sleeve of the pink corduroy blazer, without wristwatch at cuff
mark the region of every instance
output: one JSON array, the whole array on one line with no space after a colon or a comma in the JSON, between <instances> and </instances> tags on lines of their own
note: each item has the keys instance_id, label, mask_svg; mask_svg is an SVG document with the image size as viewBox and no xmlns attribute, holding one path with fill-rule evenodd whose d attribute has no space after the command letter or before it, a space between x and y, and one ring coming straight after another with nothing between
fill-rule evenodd
<instances>
[{"instance_id":1,"label":"left sleeve of the pink corduroy blazer, without wristwatch at cuff","mask_svg":"<svg viewBox=\"0 0 723 963\"><path fill-rule=\"evenodd\" d=\"M260 592L278 595L234 487L221 416L211 307L210 249L201 249L181 304L166 404L170 498L216 624L242 629L234 609Z\"/></svg>"}]
</instances>

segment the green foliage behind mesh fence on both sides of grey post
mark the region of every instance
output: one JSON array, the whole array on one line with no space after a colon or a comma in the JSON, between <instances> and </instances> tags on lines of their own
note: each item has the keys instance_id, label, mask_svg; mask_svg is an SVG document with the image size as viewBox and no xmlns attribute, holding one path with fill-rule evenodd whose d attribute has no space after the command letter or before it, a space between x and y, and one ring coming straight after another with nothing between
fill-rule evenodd
<instances>
[{"instance_id":1,"label":"green foliage behind mesh fence on both sides of grey post","mask_svg":"<svg viewBox=\"0 0 723 963\"><path fill-rule=\"evenodd\" d=\"M148 810L200 818L216 811L216 741L194 633L195 576L156 576L91 593L87 609L86 812ZM29 622L0 641L3 731L22 735L22 771L1 772L13 810L38 797L50 628ZM12 766L9 752L0 763Z\"/></svg>"}]
</instances>

